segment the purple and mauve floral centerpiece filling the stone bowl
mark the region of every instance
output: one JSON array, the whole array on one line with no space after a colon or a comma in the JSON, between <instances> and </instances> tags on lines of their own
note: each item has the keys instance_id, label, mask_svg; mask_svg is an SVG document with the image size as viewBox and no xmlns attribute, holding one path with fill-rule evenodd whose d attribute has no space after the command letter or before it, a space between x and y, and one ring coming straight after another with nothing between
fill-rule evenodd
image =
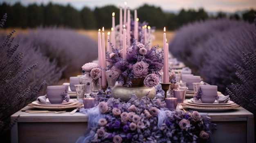
<instances>
[{"instance_id":1,"label":"purple and mauve floral centerpiece filling the stone bowl","mask_svg":"<svg viewBox=\"0 0 256 143\"><path fill-rule=\"evenodd\" d=\"M106 60L110 63L108 70L111 78L129 87L136 80L141 80L148 87L158 84L159 71L163 66L163 52L156 51L156 46L150 48L148 44L137 44L134 40L132 46L127 49L126 59L122 57L122 50L112 46L112 51L113 53L106 54Z\"/></svg>"}]
</instances>

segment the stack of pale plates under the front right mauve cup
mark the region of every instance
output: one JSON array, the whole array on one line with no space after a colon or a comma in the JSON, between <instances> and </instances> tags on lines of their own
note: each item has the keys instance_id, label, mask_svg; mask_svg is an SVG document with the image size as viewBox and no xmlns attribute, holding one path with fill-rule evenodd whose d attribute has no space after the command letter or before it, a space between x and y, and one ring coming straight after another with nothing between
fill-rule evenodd
<instances>
[{"instance_id":1,"label":"stack of pale plates under the front right mauve cup","mask_svg":"<svg viewBox=\"0 0 256 143\"><path fill-rule=\"evenodd\" d=\"M203 112L216 112L216 111L226 111L234 108L240 107L233 101L227 101L227 103L218 103L215 101L213 103L197 103L191 98L182 103L183 107L190 108L191 110L203 111Z\"/></svg>"}]
</instances>

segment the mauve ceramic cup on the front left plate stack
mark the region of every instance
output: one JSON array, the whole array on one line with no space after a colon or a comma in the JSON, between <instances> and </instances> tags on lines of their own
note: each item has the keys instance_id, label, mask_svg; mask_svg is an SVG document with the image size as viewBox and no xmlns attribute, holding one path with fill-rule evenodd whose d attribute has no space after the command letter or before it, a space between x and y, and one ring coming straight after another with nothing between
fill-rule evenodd
<instances>
[{"instance_id":1,"label":"mauve ceramic cup on the front left plate stack","mask_svg":"<svg viewBox=\"0 0 256 143\"><path fill-rule=\"evenodd\" d=\"M52 104L61 104L64 100L63 93L66 92L66 86L47 86L47 98Z\"/></svg>"}]
</instances>

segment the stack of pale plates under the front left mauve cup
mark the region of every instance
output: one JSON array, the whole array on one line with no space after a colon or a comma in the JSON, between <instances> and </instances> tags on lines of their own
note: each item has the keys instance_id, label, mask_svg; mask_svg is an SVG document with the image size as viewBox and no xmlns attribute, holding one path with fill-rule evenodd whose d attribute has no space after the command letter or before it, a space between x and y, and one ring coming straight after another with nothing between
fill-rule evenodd
<instances>
[{"instance_id":1,"label":"stack of pale plates under the front left mauve cup","mask_svg":"<svg viewBox=\"0 0 256 143\"><path fill-rule=\"evenodd\" d=\"M32 103L29 103L27 106L33 107L33 108L38 108L38 109L47 109L51 111L59 111L59 110L72 110L76 107L81 107L83 106L83 103L75 100L75 99L70 99L70 101L63 101L61 104L52 104L49 102L48 99L46 99L46 103L40 103L38 101L33 101Z\"/></svg>"}]
</instances>

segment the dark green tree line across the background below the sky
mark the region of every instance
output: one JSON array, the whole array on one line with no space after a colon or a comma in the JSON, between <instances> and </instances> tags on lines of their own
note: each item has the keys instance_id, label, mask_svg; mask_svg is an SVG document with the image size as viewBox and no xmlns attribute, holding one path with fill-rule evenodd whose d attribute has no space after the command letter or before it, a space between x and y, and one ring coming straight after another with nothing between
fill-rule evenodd
<instances>
[{"instance_id":1,"label":"dark green tree line across the background below the sky","mask_svg":"<svg viewBox=\"0 0 256 143\"><path fill-rule=\"evenodd\" d=\"M64 26L72 29L99 29L104 26L111 28L112 12L115 12L115 23L119 24L119 8L114 5L104 7L95 7L91 10L89 7L83 7L80 11L72 7L70 4L66 6L60 4L29 4L27 7L20 2L16 2L12 6L3 2L0 4L0 16L7 13L8 18L5 28L21 27L35 28L37 26ZM242 16L234 13L227 15L218 12L217 15L209 15L203 8L181 9L178 13L164 12L160 7L144 4L137 9L137 16L140 22L148 22L151 27L162 29L164 26L169 30L174 30L189 22L198 20L206 20L208 18L230 18L243 19L250 23L254 22L253 9L246 11ZM134 10L131 10L134 15ZM133 16L132 16L133 17Z\"/></svg>"}]
</instances>

